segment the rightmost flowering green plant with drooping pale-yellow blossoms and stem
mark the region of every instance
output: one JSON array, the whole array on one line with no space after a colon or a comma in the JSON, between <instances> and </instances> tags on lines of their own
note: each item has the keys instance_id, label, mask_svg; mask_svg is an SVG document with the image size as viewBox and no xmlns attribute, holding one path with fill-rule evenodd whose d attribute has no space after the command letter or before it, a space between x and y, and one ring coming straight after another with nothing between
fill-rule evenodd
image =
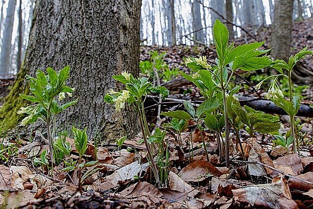
<instances>
[{"instance_id":1,"label":"rightmost flowering green plant with drooping pale-yellow blossoms and stem","mask_svg":"<svg viewBox=\"0 0 313 209\"><path fill-rule=\"evenodd\" d=\"M304 58L306 55L313 55L312 51L307 50L307 47L302 49L300 52L295 54L294 56L290 56L288 63L284 60L275 60L275 62L271 65L272 68L277 70L277 75L272 75L261 81L256 87L260 88L264 81L269 78L273 78L274 81L269 87L267 92L267 99L273 101L277 106L284 109L287 114L290 116L290 129L291 129L291 136L293 137L293 148L294 153L298 151L300 154L299 149L299 139L296 137L296 127L295 127L295 116L300 108L300 97L293 93L294 85L292 83L292 72L293 68L297 64L299 60ZM288 86L289 86L289 98L288 100L285 99L283 92L281 91L278 85L278 78L286 78L288 79Z\"/></svg>"}]
</instances>

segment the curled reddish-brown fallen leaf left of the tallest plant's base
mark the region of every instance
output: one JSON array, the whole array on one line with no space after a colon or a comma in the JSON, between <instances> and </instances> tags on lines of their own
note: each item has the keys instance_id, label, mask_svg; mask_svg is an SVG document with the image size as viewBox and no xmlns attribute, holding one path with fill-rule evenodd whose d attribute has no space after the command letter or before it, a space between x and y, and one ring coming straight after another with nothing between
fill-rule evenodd
<instances>
[{"instance_id":1,"label":"curled reddish-brown fallen leaf left of the tallest plant's base","mask_svg":"<svg viewBox=\"0 0 313 209\"><path fill-rule=\"evenodd\" d=\"M220 177L222 174L214 165L205 160L197 160L187 165L178 173L182 180L190 182L200 182L208 177L208 175Z\"/></svg>"}]
</instances>

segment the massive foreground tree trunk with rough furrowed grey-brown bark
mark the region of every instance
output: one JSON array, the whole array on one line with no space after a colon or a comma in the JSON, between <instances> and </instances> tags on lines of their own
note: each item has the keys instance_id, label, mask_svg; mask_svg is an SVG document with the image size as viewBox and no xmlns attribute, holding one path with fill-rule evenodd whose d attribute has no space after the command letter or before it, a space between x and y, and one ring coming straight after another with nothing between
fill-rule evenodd
<instances>
[{"instance_id":1,"label":"massive foreground tree trunk with rough furrowed grey-brown bark","mask_svg":"<svg viewBox=\"0 0 313 209\"><path fill-rule=\"evenodd\" d=\"M138 76L140 6L140 0L37 0L24 65L0 109L0 126L12 128L20 119L16 110L24 101L18 93L29 92L26 74L69 64L68 85L79 100L57 118L58 127L87 127L89 138L97 134L109 141L136 136L137 114L116 112L103 97L110 88L123 86L112 75L129 71Z\"/></svg>"}]
</instances>

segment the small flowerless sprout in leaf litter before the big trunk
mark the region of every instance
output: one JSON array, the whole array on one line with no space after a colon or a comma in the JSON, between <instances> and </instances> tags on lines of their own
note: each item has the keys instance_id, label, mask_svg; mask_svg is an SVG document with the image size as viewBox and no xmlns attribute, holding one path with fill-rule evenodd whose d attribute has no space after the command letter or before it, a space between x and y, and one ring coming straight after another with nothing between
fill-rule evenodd
<instances>
[{"instance_id":1,"label":"small flowerless sprout in leaf litter before the big trunk","mask_svg":"<svg viewBox=\"0 0 313 209\"><path fill-rule=\"evenodd\" d=\"M84 181L89 176L91 176L92 174L100 170L100 168L96 168L98 161L89 161L87 163L82 162L82 156L87 151L88 139L87 139L87 134L86 134L86 128L84 128L81 131L78 128L73 126L72 131L74 133L74 143L75 143L75 147L78 152L78 155L79 155L79 159L75 166L68 166L62 169L62 171L73 171L73 170L78 169L78 191L81 193L81 188L82 188ZM82 175L82 170L88 167L91 167L91 168Z\"/></svg>"}]
</instances>

